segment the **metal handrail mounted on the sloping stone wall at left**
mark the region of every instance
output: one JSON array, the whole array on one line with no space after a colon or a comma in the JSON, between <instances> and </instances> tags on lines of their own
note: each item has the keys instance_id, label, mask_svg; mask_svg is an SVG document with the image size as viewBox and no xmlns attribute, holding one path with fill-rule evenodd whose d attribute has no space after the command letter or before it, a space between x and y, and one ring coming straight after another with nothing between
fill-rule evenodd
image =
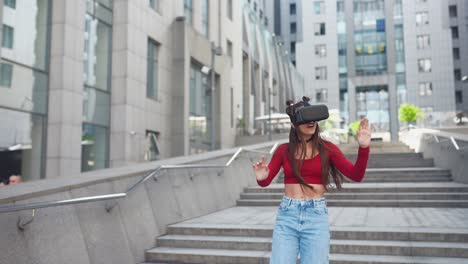
<instances>
[{"instance_id":1,"label":"metal handrail mounted on the sloping stone wall at left","mask_svg":"<svg viewBox=\"0 0 468 264\"><path fill-rule=\"evenodd\" d=\"M270 150L270 154L275 151L278 147L278 143L276 143ZM154 178L157 180L157 177L160 175L159 172L164 169L187 169L187 168L226 168L231 165L231 163L239 156L242 152L253 152L252 150L239 148L229 159L226 164L223 165L195 165L195 164L181 164L181 165L160 165L156 169L149 172L146 176L138 180L135 184L130 186L127 191L123 193L114 193L114 194L105 194L105 195L94 195L94 196L86 196L74 199L67 199L67 200L60 200L60 201L52 201L52 202L42 202L42 203L31 203L31 204L20 204L20 205L7 205L7 206L0 206L0 213L8 213L8 212L16 212L22 210L30 210L30 209L39 209L39 208L47 208L47 207L55 207L55 206L63 206L63 205L71 205L71 204L79 204L79 203L89 203L89 202L97 202L97 201L104 201L104 200L116 200L120 198L125 198L129 195L129 193L133 192L138 186L142 183L146 182L150 178ZM220 175L220 174L218 174ZM106 204L105 208L109 212L112 208L115 207L117 203L114 204ZM18 228L20 230L24 229L24 226L31 223L34 219L35 211L33 211L32 219L29 220L27 223L22 224L21 219L18 221Z\"/></svg>"}]
</instances>

